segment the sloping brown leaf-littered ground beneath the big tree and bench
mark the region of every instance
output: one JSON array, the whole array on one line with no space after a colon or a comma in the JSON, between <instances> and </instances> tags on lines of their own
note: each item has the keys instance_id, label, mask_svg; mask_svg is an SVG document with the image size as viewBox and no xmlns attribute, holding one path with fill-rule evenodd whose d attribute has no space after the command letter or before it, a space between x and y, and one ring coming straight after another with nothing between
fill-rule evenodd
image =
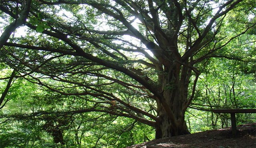
<instances>
[{"instance_id":1,"label":"sloping brown leaf-littered ground beneath the big tree and bench","mask_svg":"<svg viewBox=\"0 0 256 148\"><path fill-rule=\"evenodd\" d=\"M163 138L129 146L126 148L256 148L256 124L238 125L237 136L232 136L231 128L208 130L194 134Z\"/></svg>"}]
</instances>

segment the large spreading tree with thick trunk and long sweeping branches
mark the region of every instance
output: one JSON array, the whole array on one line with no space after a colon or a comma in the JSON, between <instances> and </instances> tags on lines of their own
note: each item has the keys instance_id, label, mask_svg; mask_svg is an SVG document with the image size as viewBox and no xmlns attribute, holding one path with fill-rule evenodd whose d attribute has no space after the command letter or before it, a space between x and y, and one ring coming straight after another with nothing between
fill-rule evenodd
<instances>
[{"instance_id":1,"label":"large spreading tree with thick trunk and long sweeping branches","mask_svg":"<svg viewBox=\"0 0 256 148\"><path fill-rule=\"evenodd\" d=\"M200 62L255 60L224 48L255 32L254 0L1 0L0 9L12 22L1 36L1 58L16 72L10 78L74 97L65 115L132 118L154 127L156 138L189 134L184 118ZM226 30L230 20L234 30ZM10 38L21 25L26 35Z\"/></svg>"}]
</instances>

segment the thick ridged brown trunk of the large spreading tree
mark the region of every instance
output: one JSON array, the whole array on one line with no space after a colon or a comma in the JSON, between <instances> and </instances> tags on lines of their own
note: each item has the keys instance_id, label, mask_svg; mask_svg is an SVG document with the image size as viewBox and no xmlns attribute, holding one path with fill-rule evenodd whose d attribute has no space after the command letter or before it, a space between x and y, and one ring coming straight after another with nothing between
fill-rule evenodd
<instances>
[{"instance_id":1,"label":"thick ridged brown trunk of the large spreading tree","mask_svg":"<svg viewBox=\"0 0 256 148\"><path fill-rule=\"evenodd\" d=\"M190 71L188 68L183 68L182 73L185 72L185 75L182 76L182 74L180 75L180 66L172 65L170 67L172 69L165 68L166 72L164 72L165 74L162 79L162 92L175 119L170 119L162 104L158 105L159 120L156 121L156 139L190 134L184 120L184 106L188 97Z\"/></svg>"}]
</instances>

